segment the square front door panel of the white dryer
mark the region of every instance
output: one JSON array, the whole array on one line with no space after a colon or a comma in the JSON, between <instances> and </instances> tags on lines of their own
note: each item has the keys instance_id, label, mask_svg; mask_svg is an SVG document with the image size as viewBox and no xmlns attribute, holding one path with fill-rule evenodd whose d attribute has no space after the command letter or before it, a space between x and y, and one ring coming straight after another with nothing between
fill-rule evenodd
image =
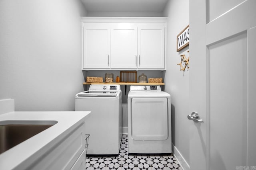
<instances>
[{"instance_id":1,"label":"square front door panel of the white dryer","mask_svg":"<svg viewBox=\"0 0 256 170\"><path fill-rule=\"evenodd\" d=\"M131 135L134 140L168 138L168 105L166 98L133 98Z\"/></svg>"}]
</instances>

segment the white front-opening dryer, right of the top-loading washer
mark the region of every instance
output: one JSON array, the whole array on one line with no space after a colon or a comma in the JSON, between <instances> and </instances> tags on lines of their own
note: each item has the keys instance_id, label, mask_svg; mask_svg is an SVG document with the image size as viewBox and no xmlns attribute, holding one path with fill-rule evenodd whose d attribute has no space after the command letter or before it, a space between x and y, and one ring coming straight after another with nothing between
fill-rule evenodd
<instances>
[{"instance_id":1,"label":"white front-opening dryer, right of the top-loading washer","mask_svg":"<svg viewBox=\"0 0 256 170\"><path fill-rule=\"evenodd\" d=\"M128 153L172 152L171 98L160 86L131 86L128 93Z\"/></svg>"}]
</instances>

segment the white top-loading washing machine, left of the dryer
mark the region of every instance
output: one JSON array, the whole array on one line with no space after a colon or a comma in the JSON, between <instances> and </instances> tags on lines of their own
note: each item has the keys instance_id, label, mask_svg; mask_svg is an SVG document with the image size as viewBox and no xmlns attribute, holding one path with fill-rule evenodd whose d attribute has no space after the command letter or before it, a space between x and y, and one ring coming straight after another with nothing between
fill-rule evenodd
<instances>
[{"instance_id":1,"label":"white top-loading washing machine, left of the dryer","mask_svg":"<svg viewBox=\"0 0 256 170\"><path fill-rule=\"evenodd\" d=\"M91 111L85 123L90 134L88 156L119 154L122 138L122 91L120 85L92 84L76 94L75 111Z\"/></svg>"}]
</instances>

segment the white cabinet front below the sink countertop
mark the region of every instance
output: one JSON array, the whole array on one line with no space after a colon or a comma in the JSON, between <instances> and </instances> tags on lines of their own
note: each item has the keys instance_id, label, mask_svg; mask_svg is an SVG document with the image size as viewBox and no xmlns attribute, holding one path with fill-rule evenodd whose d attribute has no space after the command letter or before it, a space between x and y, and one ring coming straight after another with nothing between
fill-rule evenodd
<instances>
[{"instance_id":1,"label":"white cabinet front below the sink countertop","mask_svg":"<svg viewBox=\"0 0 256 170\"><path fill-rule=\"evenodd\" d=\"M42 158L34 162L31 170L78 170L85 169L85 124L82 123Z\"/></svg>"}]
</instances>

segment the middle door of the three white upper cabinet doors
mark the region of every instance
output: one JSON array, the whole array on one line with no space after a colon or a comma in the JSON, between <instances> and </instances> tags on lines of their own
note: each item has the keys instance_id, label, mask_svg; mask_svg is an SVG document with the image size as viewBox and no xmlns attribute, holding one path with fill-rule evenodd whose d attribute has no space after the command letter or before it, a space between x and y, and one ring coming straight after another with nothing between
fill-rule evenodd
<instances>
[{"instance_id":1,"label":"middle door of the three white upper cabinet doors","mask_svg":"<svg viewBox=\"0 0 256 170\"><path fill-rule=\"evenodd\" d=\"M111 68L137 68L137 27L118 23L111 28Z\"/></svg>"}]
</instances>

